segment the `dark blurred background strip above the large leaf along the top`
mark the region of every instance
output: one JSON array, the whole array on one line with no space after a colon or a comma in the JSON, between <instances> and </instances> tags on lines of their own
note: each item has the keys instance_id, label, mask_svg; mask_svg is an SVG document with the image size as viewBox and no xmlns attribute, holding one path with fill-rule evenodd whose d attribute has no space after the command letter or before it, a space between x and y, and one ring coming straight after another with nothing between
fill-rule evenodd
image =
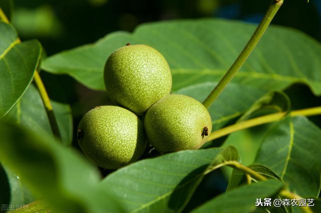
<instances>
[{"instance_id":1,"label":"dark blurred background strip above the large leaf along the top","mask_svg":"<svg viewBox=\"0 0 321 213\"><path fill-rule=\"evenodd\" d=\"M3 1L3 0L2 0ZM37 38L48 55L118 30L170 19L226 18L258 23L270 0L15 0L13 23L23 40ZM321 39L321 0L284 1L273 24Z\"/></svg>"}]
</instances>

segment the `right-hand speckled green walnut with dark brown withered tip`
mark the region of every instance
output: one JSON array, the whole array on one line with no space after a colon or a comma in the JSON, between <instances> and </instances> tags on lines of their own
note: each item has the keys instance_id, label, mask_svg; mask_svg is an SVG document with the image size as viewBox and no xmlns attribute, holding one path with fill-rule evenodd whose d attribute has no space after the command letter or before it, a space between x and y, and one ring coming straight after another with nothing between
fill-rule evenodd
<instances>
[{"instance_id":1,"label":"right-hand speckled green walnut with dark brown withered tip","mask_svg":"<svg viewBox=\"0 0 321 213\"><path fill-rule=\"evenodd\" d=\"M148 141L161 153L198 149L212 131L208 110L185 95L168 95L155 103L145 115L144 126Z\"/></svg>"}]
</instances>

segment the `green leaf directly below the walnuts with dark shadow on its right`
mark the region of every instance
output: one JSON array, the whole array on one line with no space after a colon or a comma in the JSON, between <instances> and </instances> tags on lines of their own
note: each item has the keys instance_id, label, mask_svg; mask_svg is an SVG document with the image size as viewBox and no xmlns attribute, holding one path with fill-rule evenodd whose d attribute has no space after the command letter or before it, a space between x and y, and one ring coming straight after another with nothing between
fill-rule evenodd
<instances>
[{"instance_id":1,"label":"green leaf directly below the walnuts with dark shadow on its right","mask_svg":"<svg viewBox=\"0 0 321 213\"><path fill-rule=\"evenodd\" d=\"M232 160L233 147L165 154L111 173L100 187L116 194L126 212L181 212L204 175Z\"/></svg>"}]
</instances>

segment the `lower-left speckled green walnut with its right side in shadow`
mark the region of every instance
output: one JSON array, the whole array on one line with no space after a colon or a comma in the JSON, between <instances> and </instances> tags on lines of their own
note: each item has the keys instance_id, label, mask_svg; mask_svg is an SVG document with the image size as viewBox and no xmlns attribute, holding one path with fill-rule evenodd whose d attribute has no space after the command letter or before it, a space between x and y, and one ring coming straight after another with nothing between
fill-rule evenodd
<instances>
[{"instance_id":1,"label":"lower-left speckled green walnut with its right side in shadow","mask_svg":"<svg viewBox=\"0 0 321 213\"><path fill-rule=\"evenodd\" d=\"M100 106L87 112L79 123L77 137L86 157L107 169L138 160L147 145L142 121L117 106Z\"/></svg>"}]
</instances>

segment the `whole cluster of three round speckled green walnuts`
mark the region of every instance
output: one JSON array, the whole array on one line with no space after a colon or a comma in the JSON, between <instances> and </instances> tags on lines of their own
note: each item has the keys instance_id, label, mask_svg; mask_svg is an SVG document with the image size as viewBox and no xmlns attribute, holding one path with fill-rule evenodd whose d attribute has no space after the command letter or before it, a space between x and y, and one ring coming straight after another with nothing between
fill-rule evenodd
<instances>
[{"instance_id":1,"label":"whole cluster of three round speckled green walnuts","mask_svg":"<svg viewBox=\"0 0 321 213\"><path fill-rule=\"evenodd\" d=\"M164 56L146 45L114 51L104 69L107 94L117 106L99 106L78 126L78 142L96 165L117 169L138 160L147 144L167 153L198 149L212 121L194 98L170 94L172 74Z\"/></svg>"}]
</instances>

